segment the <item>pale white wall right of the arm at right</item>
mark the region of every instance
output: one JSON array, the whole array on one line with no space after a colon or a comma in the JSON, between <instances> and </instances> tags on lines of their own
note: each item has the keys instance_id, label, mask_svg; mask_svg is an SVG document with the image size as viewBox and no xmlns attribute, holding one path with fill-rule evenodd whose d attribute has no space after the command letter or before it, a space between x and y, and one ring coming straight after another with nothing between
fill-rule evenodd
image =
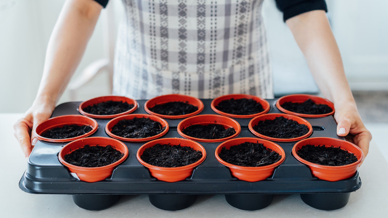
<instances>
[{"instance_id":1,"label":"pale white wall right of the arm at right","mask_svg":"<svg viewBox=\"0 0 388 218\"><path fill-rule=\"evenodd\" d=\"M327 0L352 90L388 90L388 1Z\"/></svg>"}]
</instances>

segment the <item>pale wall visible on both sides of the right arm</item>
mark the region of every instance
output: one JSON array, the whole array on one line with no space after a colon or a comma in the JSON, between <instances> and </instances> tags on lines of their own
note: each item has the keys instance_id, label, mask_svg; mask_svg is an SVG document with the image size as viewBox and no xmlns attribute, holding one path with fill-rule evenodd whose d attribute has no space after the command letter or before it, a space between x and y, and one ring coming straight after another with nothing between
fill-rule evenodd
<instances>
[{"instance_id":1,"label":"pale wall visible on both sides of the right arm","mask_svg":"<svg viewBox=\"0 0 388 218\"><path fill-rule=\"evenodd\" d=\"M326 0L328 17L352 90L388 91L388 0ZM263 16L275 94L317 92L313 78L274 0Z\"/></svg>"}]
</instances>

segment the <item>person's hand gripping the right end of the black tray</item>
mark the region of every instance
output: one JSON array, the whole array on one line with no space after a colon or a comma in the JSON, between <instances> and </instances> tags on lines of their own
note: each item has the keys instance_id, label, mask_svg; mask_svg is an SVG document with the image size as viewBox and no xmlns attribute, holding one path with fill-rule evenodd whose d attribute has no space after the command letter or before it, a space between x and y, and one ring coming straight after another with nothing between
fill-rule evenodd
<instances>
[{"instance_id":1,"label":"person's hand gripping the right end of the black tray","mask_svg":"<svg viewBox=\"0 0 388 218\"><path fill-rule=\"evenodd\" d=\"M364 152L364 158L368 155L369 143L372 140L372 134L365 127L361 116L354 104L345 107L339 107L334 113L337 121L337 134L345 136L347 141L359 146Z\"/></svg>"}]
</instances>

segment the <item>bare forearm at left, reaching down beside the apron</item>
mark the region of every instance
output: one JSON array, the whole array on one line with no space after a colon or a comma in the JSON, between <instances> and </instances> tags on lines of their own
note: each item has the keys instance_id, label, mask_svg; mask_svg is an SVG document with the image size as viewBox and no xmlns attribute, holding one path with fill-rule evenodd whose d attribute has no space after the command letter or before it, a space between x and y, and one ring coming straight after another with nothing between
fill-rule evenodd
<instances>
[{"instance_id":1,"label":"bare forearm at left, reaching down beside the apron","mask_svg":"<svg viewBox=\"0 0 388 218\"><path fill-rule=\"evenodd\" d=\"M67 0L46 51L36 100L56 104L84 54L101 6L92 0Z\"/></svg>"}]
</instances>

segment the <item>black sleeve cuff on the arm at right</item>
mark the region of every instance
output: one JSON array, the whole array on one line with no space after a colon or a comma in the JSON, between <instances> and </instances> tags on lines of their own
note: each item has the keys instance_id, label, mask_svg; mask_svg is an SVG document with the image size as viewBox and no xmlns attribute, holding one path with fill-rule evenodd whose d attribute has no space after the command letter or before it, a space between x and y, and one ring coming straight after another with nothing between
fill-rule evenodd
<instances>
[{"instance_id":1,"label":"black sleeve cuff on the arm at right","mask_svg":"<svg viewBox=\"0 0 388 218\"><path fill-rule=\"evenodd\" d=\"M299 4L292 5L283 10L283 20L299 15L301 13L311 10L324 10L327 12L326 2L324 0L318 1L304 1Z\"/></svg>"}]
</instances>

